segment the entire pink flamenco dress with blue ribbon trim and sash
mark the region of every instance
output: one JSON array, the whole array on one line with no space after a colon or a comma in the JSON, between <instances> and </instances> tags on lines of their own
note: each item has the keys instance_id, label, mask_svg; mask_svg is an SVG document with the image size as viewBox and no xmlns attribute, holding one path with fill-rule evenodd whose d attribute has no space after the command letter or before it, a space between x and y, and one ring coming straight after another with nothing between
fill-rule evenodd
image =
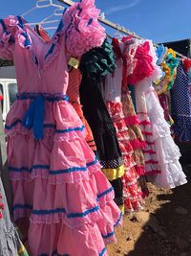
<instances>
[{"instance_id":1,"label":"entire pink flamenco dress with blue ribbon trim and sash","mask_svg":"<svg viewBox=\"0 0 191 256\"><path fill-rule=\"evenodd\" d=\"M107 255L121 213L66 96L68 60L105 38L92 0L63 13L45 42L20 16L0 20L0 57L13 59L17 100L6 120L13 218L31 256Z\"/></svg>"}]
</instances>

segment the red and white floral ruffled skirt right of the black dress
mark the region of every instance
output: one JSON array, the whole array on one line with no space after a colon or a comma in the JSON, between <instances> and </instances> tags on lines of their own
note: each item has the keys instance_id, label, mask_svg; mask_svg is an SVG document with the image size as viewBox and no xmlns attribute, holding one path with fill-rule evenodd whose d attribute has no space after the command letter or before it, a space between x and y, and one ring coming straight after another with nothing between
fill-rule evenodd
<instances>
[{"instance_id":1,"label":"red and white floral ruffled skirt right of the black dress","mask_svg":"<svg viewBox=\"0 0 191 256\"><path fill-rule=\"evenodd\" d=\"M128 128L124 122L121 103L107 102L107 108L117 130L117 140L122 153L125 174L122 176L125 211L131 212L142 208L141 191L138 186L138 174L133 157Z\"/></svg>"}]
</instances>

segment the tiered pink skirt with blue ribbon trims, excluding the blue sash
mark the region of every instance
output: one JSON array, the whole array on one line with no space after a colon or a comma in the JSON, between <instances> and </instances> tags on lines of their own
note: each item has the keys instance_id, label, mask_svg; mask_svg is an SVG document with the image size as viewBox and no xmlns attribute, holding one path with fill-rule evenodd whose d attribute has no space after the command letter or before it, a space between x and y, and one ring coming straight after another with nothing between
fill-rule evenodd
<instances>
[{"instance_id":1,"label":"tiered pink skirt with blue ribbon trims, excluding the blue sash","mask_svg":"<svg viewBox=\"0 0 191 256\"><path fill-rule=\"evenodd\" d=\"M69 103L46 101L44 138L35 140L21 124L31 101L17 100L6 122L13 217L30 219L30 255L106 255L121 214L84 126Z\"/></svg>"}]
</instances>

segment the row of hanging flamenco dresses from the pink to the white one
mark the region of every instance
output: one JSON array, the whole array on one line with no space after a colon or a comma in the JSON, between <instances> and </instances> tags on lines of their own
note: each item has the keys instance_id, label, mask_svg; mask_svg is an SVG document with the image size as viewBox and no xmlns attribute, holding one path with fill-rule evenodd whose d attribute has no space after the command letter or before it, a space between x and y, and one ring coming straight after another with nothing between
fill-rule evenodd
<instances>
[{"instance_id":1,"label":"row of hanging flamenco dresses from the pink to the white one","mask_svg":"<svg viewBox=\"0 0 191 256\"><path fill-rule=\"evenodd\" d=\"M186 183L155 89L162 55L150 40L109 43L98 14L94 1L74 4L51 38L21 16L0 22L19 91L6 121L13 219L32 256L107 255L146 180Z\"/></svg>"}]
</instances>

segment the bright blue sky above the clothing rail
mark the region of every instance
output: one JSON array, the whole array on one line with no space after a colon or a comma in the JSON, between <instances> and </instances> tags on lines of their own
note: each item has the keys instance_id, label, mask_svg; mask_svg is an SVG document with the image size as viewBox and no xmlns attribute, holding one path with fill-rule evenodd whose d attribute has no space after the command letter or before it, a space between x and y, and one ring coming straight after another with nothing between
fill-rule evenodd
<instances>
[{"instance_id":1,"label":"bright blue sky above the clothing rail","mask_svg":"<svg viewBox=\"0 0 191 256\"><path fill-rule=\"evenodd\" d=\"M1 2L0 15L5 17L27 12L36 1ZM191 0L96 0L96 6L105 13L107 19L155 42L191 37ZM52 13L52 8L36 10L26 16L26 19L38 22ZM108 27L106 29L110 35L115 35L115 31Z\"/></svg>"}]
</instances>

